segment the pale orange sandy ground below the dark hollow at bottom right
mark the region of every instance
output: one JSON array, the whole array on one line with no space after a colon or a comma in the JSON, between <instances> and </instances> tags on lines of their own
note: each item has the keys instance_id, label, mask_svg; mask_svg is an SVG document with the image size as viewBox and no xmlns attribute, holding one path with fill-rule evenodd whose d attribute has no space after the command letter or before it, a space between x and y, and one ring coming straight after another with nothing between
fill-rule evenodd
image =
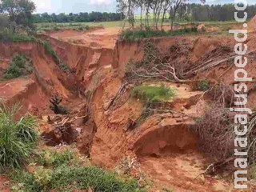
<instances>
[{"instance_id":1,"label":"pale orange sandy ground below the dark hollow at bottom right","mask_svg":"<svg viewBox=\"0 0 256 192\"><path fill-rule=\"evenodd\" d=\"M198 153L173 154L162 158L142 158L142 170L150 175L156 186L166 186L175 192L230 191L230 184L216 178L205 177L205 158ZM197 178L198 177L198 178Z\"/></svg>"}]
</instances>

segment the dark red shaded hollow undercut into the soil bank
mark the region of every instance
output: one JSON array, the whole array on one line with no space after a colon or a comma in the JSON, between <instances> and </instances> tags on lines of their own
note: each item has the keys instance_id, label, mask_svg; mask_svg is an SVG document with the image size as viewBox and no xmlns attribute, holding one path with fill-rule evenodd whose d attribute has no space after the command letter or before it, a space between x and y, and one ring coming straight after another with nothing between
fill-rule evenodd
<instances>
[{"instance_id":1,"label":"dark red shaded hollow undercut into the soil bank","mask_svg":"<svg viewBox=\"0 0 256 192\"><path fill-rule=\"evenodd\" d=\"M175 124L175 119L166 119ZM150 129L140 136L134 144L135 153L138 156L161 156L174 153L187 153L196 150L197 138L190 133L187 125L160 126Z\"/></svg>"}]
</instances>

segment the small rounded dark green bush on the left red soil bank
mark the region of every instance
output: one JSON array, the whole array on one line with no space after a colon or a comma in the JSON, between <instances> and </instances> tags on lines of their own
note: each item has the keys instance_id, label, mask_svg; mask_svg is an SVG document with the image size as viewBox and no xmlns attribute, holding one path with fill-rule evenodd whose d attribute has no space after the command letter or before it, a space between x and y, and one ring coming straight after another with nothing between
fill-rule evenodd
<instances>
[{"instance_id":1,"label":"small rounded dark green bush on the left red soil bank","mask_svg":"<svg viewBox=\"0 0 256 192\"><path fill-rule=\"evenodd\" d=\"M33 72L33 67L28 58L23 54L17 54L10 62L3 78L11 79L26 76Z\"/></svg>"}]
</instances>

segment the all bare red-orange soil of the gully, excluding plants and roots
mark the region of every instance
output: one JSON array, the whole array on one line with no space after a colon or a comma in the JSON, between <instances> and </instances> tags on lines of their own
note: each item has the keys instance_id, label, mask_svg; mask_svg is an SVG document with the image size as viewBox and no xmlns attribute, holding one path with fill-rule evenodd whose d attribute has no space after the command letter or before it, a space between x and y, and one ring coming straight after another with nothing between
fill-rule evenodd
<instances>
[{"instance_id":1,"label":"all bare red-orange soil of the gully, excluding plants and roots","mask_svg":"<svg viewBox=\"0 0 256 192\"><path fill-rule=\"evenodd\" d=\"M50 36L42 35L69 66L70 74L64 73L41 45L1 43L0 56L5 60L0 61L0 75L8 66L7 60L17 53L32 58L34 74L30 78L0 82L0 97L7 103L23 100L24 112L33 109L40 116L50 114L48 101L50 95L57 92L64 98L70 114L82 116L86 108L84 91L97 84L90 118L85 122L74 122L74 132L68 132L66 138L59 138L51 125L42 124L42 132L45 132L46 138L52 139L48 145L55 146L64 140L68 144L77 141L82 154L90 156L95 165L107 168L118 166L122 158L137 156L142 171L154 181L152 191L161 190L162 186L175 191L229 191L231 184L217 178L200 176L194 179L209 163L198 152L197 138L192 131L194 118L200 117L206 107L202 92L191 91L187 85L166 83L177 91L176 98L166 102L166 106L172 106L171 110L177 113L153 114L130 129L131 122L141 117L145 106L130 97L132 85L126 85L123 76L130 59L142 60L146 40L116 42L117 34L116 29L99 29L88 32L55 31L47 34ZM251 36L248 40L249 50L256 48L254 38ZM70 42L70 39L79 43ZM163 52L170 50L170 46L185 45L188 54L171 54L178 54L177 61L187 65L207 62L212 58L221 59L227 54L225 50L230 50L235 43L233 37L200 36L152 38L150 41ZM256 77L256 63L253 57L248 60L248 76ZM195 78L233 83L234 70L235 67L226 61L210 70L198 71ZM160 82L147 84L159 86ZM251 92L248 97L251 106L255 106L255 97ZM78 134L78 138L74 138L74 134Z\"/></svg>"}]
</instances>

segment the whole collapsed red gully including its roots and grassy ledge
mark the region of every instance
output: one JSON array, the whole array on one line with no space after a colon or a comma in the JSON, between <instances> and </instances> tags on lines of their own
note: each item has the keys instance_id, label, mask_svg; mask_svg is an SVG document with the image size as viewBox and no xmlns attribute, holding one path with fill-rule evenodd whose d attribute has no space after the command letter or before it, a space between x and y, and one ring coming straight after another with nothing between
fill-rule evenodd
<instances>
[{"instance_id":1,"label":"whole collapsed red gully including its roots and grassy ledge","mask_svg":"<svg viewBox=\"0 0 256 192\"><path fill-rule=\"evenodd\" d=\"M19 115L29 111L38 116L46 139L42 146L78 148L93 165L122 170L150 191L230 191L228 178L202 174L214 161L202 153L193 130L211 99L204 94L209 86L234 82L235 67L226 58L236 42L234 37L205 36L126 42L117 41L114 29L42 34L67 70L39 43L2 42L1 78L17 54L26 55L33 73L0 82L0 97L6 105L22 102ZM255 38L250 34L250 50L256 48ZM156 54L146 54L147 49ZM158 69L145 73L145 68L133 67L153 61L159 53L162 60L156 62L176 65L174 82L159 74L153 77ZM246 66L250 77L256 77L254 57L252 52ZM171 71L162 76L173 76ZM182 82L180 73L195 81ZM253 109L254 83L248 87L248 106ZM68 114L54 114L50 101L65 106Z\"/></svg>"}]
</instances>

